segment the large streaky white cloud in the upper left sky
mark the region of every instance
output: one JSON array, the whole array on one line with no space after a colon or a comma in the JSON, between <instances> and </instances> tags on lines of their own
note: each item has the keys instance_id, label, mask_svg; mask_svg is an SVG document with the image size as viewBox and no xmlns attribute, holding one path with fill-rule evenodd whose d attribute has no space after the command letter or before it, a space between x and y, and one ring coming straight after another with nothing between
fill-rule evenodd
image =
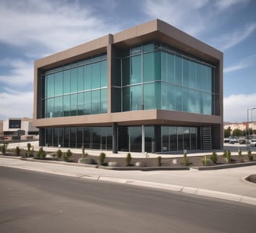
<instances>
[{"instance_id":1,"label":"large streaky white cloud in the upper left sky","mask_svg":"<svg viewBox=\"0 0 256 233\"><path fill-rule=\"evenodd\" d=\"M0 2L0 41L18 47L61 51L109 33L89 4L52 0ZM115 29L115 26L112 26Z\"/></svg>"}]
</instances>

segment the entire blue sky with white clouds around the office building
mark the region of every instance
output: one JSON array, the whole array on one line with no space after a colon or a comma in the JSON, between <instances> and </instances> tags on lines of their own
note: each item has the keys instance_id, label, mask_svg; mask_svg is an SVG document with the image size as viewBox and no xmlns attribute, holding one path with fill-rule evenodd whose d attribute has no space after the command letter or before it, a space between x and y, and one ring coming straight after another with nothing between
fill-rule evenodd
<instances>
[{"instance_id":1,"label":"entire blue sky with white clouds around the office building","mask_svg":"<svg viewBox=\"0 0 256 233\"><path fill-rule=\"evenodd\" d=\"M254 0L2 0L0 120L32 118L34 60L162 19L223 52L224 121L247 121L256 107L255 12Z\"/></svg>"}]
</instances>

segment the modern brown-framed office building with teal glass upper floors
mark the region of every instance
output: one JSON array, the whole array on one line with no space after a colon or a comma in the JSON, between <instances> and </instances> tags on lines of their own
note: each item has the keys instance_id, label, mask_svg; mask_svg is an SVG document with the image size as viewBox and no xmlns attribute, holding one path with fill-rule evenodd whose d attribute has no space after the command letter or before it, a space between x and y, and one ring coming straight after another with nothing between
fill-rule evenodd
<instances>
[{"instance_id":1,"label":"modern brown-framed office building with teal glass upper floors","mask_svg":"<svg viewBox=\"0 0 256 233\"><path fill-rule=\"evenodd\" d=\"M34 63L40 145L222 149L222 52L159 19Z\"/></svg>"}]
</instances>

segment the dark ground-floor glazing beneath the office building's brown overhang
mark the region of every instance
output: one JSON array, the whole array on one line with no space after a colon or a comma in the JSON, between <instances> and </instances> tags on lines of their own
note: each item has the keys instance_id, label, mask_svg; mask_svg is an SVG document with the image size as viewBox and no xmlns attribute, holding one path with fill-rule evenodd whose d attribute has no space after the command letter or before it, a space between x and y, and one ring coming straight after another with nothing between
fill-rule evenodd
<instances>
[{"instance_id":1,"label":"dark ground-floor glazing beneath the office building's brown overhang","mask_svg":"<svg viewBox=\"0 0 256 233\"><path fill-rule=\"evenodd\" d=\"M58 127L41 129L40 144L48 147L71 147L89 150L112 150L115 138L117 151L165 152L201 149L201 127L173 125L112 127ZM116 150L115 149L115 150Z\"/></svg>"}]
</instances>

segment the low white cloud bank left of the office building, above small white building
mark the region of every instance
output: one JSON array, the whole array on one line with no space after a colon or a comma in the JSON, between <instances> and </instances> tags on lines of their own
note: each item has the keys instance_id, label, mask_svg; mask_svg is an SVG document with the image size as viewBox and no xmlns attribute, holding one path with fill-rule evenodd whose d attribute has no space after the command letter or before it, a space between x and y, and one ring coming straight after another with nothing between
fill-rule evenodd
<instances>
[{"instance_id":1,"label":"low white cloud bank left of the office building, above small white building","mask_svg":"<svg viewBox=\"0 0 256 233\"><path fill-rule=\"evenodd\" d=\"M29 117L33 113L33 91L11 91L9 93L0 93L0 118Z\"/></svg>"}]
</instances>

